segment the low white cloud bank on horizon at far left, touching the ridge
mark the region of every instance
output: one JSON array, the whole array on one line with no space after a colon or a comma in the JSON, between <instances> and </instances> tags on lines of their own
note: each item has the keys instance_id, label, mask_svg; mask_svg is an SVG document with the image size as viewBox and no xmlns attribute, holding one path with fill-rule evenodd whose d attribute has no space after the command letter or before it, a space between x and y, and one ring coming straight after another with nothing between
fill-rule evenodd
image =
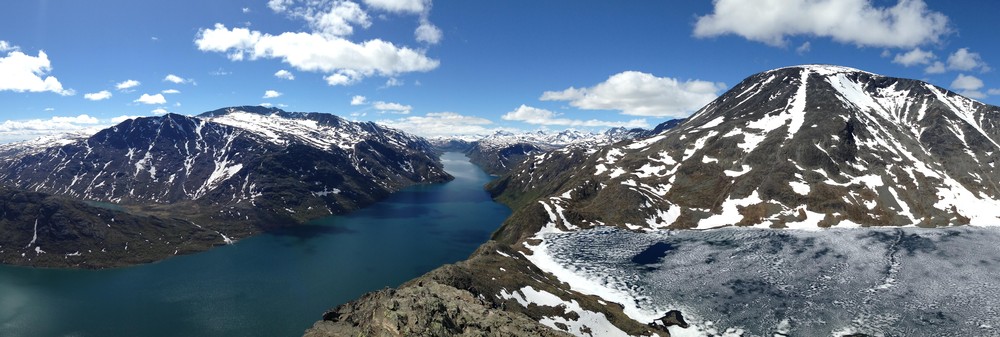
<instances>
[{"instance_id":1,"label":"low white cloud bank on horizon at far left, touching the ridge","mask_svg":"<svg viewBox=\"0 0 1000 337\"><path fill-rule=\"evenodd\" d=\"M0 123L0 142L20 141L45 135L97 131L100 121L89 115L55 116L49 119L6 120Z\"/></svg>"}]
</instances>

